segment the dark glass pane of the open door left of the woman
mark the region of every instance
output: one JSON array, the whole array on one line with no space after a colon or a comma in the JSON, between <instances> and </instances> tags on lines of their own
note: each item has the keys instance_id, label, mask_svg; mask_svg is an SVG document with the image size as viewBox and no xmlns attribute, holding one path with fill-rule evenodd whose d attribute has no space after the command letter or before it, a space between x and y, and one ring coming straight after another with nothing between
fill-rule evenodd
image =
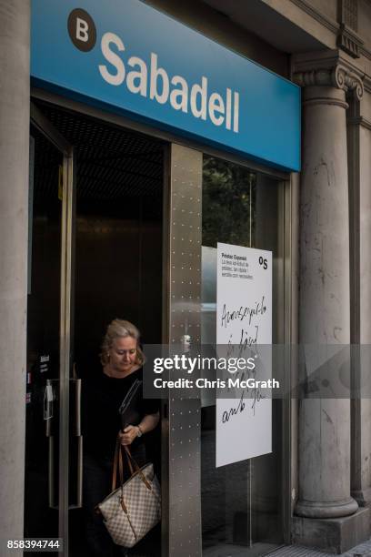
<instances>
[{"instance_id":1,"label":"dark glass pane of the open door left of the woman","mask_svg":"<svg viewBox=\"0 0 371 557\"><path fill-rule=\"evenodd\" d=\"M25 536L58 536L58 383L62 154L34 127L30 194Z\"/></svg>"}]
</instances>

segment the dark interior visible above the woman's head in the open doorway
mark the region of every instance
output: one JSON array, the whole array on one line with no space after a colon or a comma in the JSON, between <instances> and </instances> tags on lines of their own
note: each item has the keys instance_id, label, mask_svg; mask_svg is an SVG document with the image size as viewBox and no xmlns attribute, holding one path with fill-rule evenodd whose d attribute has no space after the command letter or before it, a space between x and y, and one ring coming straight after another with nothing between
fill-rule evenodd
<instances>
[{"instance_id":1,"label":"dark interior visible above the woman's head in the open doorway","mask_svg":"<svg viewBox=\"0 0 371 557\"><path fill-rule=\"evenodd\" d=\"M164 146L86 116L42 107L75 147L75 360L115 317L161 342Z\"/></svg>"}]
</instances>

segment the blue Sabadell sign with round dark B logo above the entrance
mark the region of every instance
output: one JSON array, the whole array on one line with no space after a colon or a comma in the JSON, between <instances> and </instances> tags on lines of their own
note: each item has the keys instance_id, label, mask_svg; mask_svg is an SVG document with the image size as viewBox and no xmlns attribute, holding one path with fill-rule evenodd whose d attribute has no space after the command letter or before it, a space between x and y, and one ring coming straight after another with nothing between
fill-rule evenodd
<instances>
[{"instance_id":1,"label":"blue Sabadell sign with round dark B logo above the entrance","mask_svg":"<svg viewBox=\"0 0 371 557\"><path fill-rule=\"evenodd\" d=\"M139 0L32 0L42 86L286 170L300 89Z\"/></svg>"}]
</instances>

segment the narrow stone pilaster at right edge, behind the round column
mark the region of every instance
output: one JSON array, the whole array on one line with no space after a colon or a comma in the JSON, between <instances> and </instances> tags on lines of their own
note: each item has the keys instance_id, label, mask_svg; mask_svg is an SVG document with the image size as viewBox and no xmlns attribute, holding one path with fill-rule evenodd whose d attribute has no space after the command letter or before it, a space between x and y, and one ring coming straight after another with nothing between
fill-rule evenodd
<instances>
[{"instance_id":1,"label":"narrow stone pilaster at right edge, behind the round column","mask_svg":"<svg viewBox=\"0 0 371 557\"><path fill-rule=\"evenodd\" d=\"M369 87L369 84L368 84ZM359 397L352 400L352 495L360 506L371 502L371 121L368 98L355 99L347 114L351 254L351 339L360 345L353 383ZM364 398L362 398L364 397Z\"/></svg>"}]
</instances>

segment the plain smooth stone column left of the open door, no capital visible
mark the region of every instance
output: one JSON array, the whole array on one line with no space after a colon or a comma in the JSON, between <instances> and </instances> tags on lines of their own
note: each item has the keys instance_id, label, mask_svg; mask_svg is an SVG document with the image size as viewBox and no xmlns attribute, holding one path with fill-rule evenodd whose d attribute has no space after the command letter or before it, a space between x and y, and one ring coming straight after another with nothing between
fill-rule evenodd
<instances>
[{"instance_id":1,"label":"plain smooth stone column left of the open door, no capital visible","mask_svg":"<svg viewBox=\"0 0 371 557\"><path fill-rule=\"evenodd\" d=\"M29 144L29 0L0 0L0 540L22 539ZM20 554L23 552L20 551Z\"/></svg>"}]
</instances>

